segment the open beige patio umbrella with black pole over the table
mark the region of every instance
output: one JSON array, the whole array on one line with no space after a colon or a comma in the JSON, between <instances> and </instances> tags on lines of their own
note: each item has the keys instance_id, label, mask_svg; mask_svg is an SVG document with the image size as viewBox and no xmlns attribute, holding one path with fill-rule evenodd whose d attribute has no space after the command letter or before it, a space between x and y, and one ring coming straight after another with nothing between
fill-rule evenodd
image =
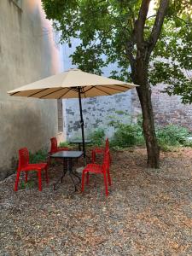
<instances>
[{"instance_id":1,"label":"open beige patio umbrella with black pole over the table","mask_svg":"<svg viewBox=\"0 0 192 256\"><path fill-rule=\"evenodd\" d=\"M84 148L84 119L81 98L94 96L111 96L136 87L135 84L108 79L96 74L85 73L79 69L70 69L32 84L26 84L8 91L10 96L26 96L39 99L79 98L80 125Z\"/></svg>"}]
</instances>

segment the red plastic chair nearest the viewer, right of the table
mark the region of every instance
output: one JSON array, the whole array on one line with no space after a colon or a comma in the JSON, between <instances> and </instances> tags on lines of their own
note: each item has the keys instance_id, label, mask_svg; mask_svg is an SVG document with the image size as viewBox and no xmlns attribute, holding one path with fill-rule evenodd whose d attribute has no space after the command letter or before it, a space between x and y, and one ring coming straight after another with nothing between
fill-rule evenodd
<instances>
[{"instance_id":1,"label":"red plastic chair nearest the viewer, right of the table","mask_svg":"<svg viewBox=\"0 0 192 256\"><path fill-rule=\"evenodd\" d=\"M84 192L84 176L86 174L86 184L89 184L89 173L103 174L105 184L105 194L108 196L108 184L111 186L111 177L109 173L109 149L105 151L102 165L88 164L82 172L81 192ZM108 180L107 180L108 176Z\"/></svg>"}]
</instances>

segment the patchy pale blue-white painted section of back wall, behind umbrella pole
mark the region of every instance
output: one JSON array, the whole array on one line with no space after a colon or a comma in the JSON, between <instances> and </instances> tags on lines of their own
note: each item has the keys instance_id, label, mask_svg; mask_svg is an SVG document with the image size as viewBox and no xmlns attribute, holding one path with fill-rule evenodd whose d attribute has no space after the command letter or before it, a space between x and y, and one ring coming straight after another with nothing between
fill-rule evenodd
<instances>
[{"instance_id":1,"label":"patchy pale blue-white painted section of back wall, behind umbrella pole","mask_svg":"<svg viewBox=\"0 0 192 256\"><path fill-rule=\"evenodd\" d=\"M70 55L73 54L73 51L78 45L79 40L73 39L71 48L68 48L67 44L62 46L64 56L63 65L65 70L75 67L72 64ZM114 64L102 68L103 75L108 77L113 69L117 69ZM131 93L132 90L129 90L114 96L98 96L95 98L82 99L85 137L97 128L104 128L106 136L111 137L113 135L113 127L108 126L108 123L111 120L109 118L110 116L115 116L115 119L121 119L122 121L127 122L125 115L115 112L124 111L125 113L131 113ZM81 129L79 125L79 101L76 99L69 99L63 102L65 108L64 116L67 139L81 137Z\"/></svg>"}]
</instances>

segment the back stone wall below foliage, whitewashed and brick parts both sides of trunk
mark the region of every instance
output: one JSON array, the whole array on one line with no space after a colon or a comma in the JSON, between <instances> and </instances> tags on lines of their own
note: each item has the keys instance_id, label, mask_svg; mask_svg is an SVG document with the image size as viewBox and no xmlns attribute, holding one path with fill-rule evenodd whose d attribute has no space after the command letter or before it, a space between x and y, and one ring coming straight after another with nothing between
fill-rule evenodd
<instances>
[{"instance_id":1,"label":"back stone wall below foliage, whitewashed and brick parts both sides of trunk","mask_svg":"<svg viewBox=\"0 0 192 256\"><path fill-rule=\"evenodd\" d=\"M162 93L163 89L163 84L152 87L155 124L160 126L180 125L192 131L192 105L184 105L180 96L168 96L166 93ZM67 138L80 137L79 102L78 100L67 100L65 105ZM127 118L119 114L119 111L130 114L135 121L137 116L142 114L136 90L130 90L115 96L85 99L83 100L83 108L86 135L102 127L106 130L106 135L111 137L113 128L108 127L108 122L111 120L110 116L124 122L127 121Z\"/></svg>"}]
</instances>

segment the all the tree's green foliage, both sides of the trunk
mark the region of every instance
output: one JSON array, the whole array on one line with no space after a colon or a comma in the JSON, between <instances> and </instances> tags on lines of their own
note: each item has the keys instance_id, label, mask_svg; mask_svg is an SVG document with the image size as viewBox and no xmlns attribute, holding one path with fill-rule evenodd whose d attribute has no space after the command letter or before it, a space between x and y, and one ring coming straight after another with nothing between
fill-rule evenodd
<instances>
[{"instance_id":1,"label":"all the tree's green foliage, both sides of the trunk","mask_svg":"<svg viewBox=\"0 0 192 256\"><path fill-rule=\"evenodd\" d=\"M131 80L137 59L137 33L141 0L43 0L49 20L61 31L61 42L69 46L73 38L81 42L73 54L80 69L102 74L102 67L117 64L112 77ZM150 1L146 1L150 2ZM152 44L160 1L154 1L154 13L143 24L144 44ZM166 92L178 94L183 102L192 102L192 2L170 0L159 40L149 56L150 84L167 84ZM143 45L144 47L144 45ZM103 58L103 56L105 56Z\"/></svg>"}]
</instances>

